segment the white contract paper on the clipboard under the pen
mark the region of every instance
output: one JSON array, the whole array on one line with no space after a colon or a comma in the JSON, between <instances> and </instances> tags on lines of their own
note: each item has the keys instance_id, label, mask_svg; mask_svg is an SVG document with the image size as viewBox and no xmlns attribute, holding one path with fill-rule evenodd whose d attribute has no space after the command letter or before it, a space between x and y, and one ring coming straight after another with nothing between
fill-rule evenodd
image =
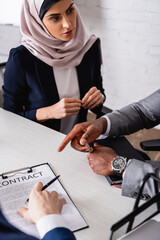
<instances>
[{"instance_id":1,"label":"white contract paper on the clipboard under the pen","mask_svg":"<svg viewBox=\"0 0 160 240\"><path fill-rule=\"evenodd\" d=\"M0 206L7 220L21 231L40 238L36 226L20 217L17 214L17 208L27 207L26 200L36 182L40 181L45 185L55 177L48 163L1 174ZM60 198L65 198L66 204L63 206L61 215L71 231L88 227L59 179L47 187L47 190L56 191Z\"/></svg>"}]
</instances>

